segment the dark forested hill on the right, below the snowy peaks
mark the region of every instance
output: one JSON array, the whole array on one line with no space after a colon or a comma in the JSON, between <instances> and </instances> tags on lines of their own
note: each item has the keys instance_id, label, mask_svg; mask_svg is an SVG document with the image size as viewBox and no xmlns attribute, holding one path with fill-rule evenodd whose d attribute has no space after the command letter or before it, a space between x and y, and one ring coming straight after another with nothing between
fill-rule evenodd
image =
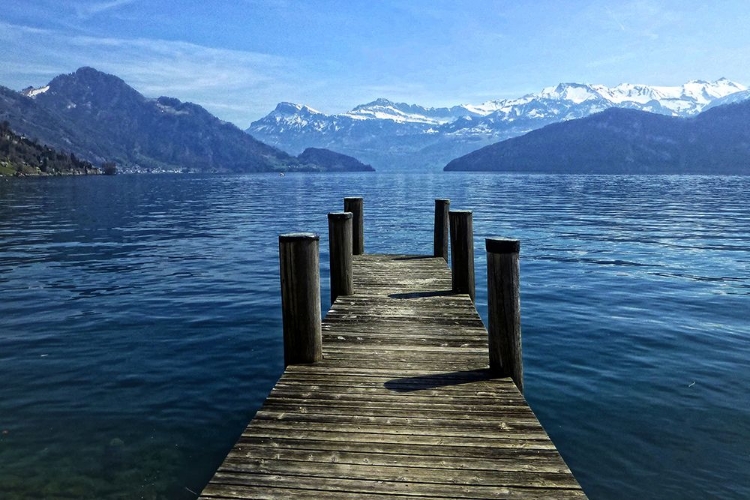
<instances>
[{"instance_id":1,"label":"dark forested hill on the right, below the snowy peaks","mask_svg":"<svg viewBox=\"0 0 750 500\"><path fill-rule=\"evenodd\" d=\"M750 101L693 118L607 109L457 158L446 171L750 174Z\"/></svg>"}]
</instances>

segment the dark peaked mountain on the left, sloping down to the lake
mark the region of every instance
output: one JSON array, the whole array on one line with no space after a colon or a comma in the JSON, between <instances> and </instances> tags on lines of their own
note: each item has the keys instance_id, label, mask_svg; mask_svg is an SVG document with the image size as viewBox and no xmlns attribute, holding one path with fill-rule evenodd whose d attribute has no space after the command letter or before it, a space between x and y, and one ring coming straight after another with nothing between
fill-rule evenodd
<instances>
[{"instance_id":1,"label":"dark peaked mountain on the left, sloping down to the lake","mask_svg":"<svg viewBox=\"0 0 750 500\"><path fill-rule=\"evenodd\" d=\"M146 98L93 68L57 76L38 89L0 87L0 121L57 150L95 165L114 161L124 171L372 170L333 152L295 158L196 104Z\"/></svg>"}]
</instances>

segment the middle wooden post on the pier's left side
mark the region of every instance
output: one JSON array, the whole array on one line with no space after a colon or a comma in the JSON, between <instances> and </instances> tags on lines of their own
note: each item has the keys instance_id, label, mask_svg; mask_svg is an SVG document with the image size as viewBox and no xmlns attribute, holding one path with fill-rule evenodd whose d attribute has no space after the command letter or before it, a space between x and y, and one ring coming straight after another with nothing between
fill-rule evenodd
<instances>
[{"instance_id":1,"label":"middle wooden post on the pier's left side","mask_svg":"<svg viewBox=\"0 0 750 500\"><path fill-rule=\"evenodd\" d=\"M339 295L354 293L352 276L352 213L328 214L328 250L331 256L331 304Z\"/></svg>"}]
</instances>

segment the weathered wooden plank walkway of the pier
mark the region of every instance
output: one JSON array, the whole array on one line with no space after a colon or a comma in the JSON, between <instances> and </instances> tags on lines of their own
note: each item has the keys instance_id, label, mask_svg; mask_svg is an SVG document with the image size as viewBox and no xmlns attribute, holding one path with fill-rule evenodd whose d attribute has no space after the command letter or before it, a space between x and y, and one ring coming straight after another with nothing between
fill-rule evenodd
<instances>
[{"instance_id":1,"label":"weathered wooden plank walkway of the pier","mask_svg":"<svg viewBox=\"0 0 750 500\"><path fill-rule=\"evenodd\" d=\"M355 255L323 360L290 365L204 499L585 498L443 258Z\"/></svg>"}]
</instances>

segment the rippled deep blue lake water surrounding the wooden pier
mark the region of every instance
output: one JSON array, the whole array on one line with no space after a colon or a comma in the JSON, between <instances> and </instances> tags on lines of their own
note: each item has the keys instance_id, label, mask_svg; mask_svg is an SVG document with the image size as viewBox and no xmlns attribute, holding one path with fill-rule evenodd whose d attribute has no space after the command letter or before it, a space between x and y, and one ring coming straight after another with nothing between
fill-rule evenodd
<instances>
[{"instance_id":1,"label":"rippled deep blue lake water surrounding the wooden pier","mask_svg":"<svg viewBox=\"0 0 750 500\"><path fill-rule=\"evenodd\" d=\"M0 179L3 498L195 498L282 371L278 234L521 240L526 396L592 499L750 497L750 178Z\"/></svg>"}]
</instances>

